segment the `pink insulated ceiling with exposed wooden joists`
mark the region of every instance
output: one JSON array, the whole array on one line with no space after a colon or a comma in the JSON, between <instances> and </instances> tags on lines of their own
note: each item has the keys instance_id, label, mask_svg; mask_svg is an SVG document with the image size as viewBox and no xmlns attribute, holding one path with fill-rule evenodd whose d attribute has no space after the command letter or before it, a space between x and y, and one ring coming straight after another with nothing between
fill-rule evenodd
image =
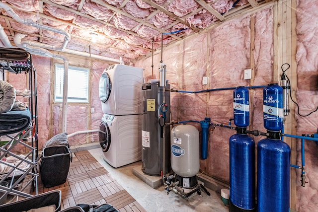
<instances>
[{"instance_id":1,"label":"pink insulated ceiling with exposed wooden joists","mask_svg":"<svg viewBox=\"0 0 318 212\"><path fill-rule=\"evenodd\" d=\"M124 61L148 55L163 45L252 11L274 0L2 0L19 18L64 30L66 50ZM31 22L32 22L31 21ZM63 45L65 35L16 21L2 7L0 24L11 44L23 40ZM48 28L49 29L49 28ZM96 42L92 42L95 37ZM22 41L23 41L22 40Z\"/></svg>"}]
</instances>

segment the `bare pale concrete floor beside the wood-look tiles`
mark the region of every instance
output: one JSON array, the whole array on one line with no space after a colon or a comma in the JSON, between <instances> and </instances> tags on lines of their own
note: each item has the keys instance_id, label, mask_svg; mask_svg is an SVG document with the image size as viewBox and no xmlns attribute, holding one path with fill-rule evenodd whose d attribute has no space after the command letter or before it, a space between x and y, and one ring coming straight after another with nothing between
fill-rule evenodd
<instances>
[{"instance_id":1,"label":"bare pale concrete floor beside the wood-look tiles","mask_svg":"<svg viewBox=\"0 0 318 212\"><path fill-rule=\"evenodd\" d=\"M167 194L163 186L153 189L136 177L133 169L141 167L141 161L113 168L102 158L100 148L88 151L147 212L229 212L229 207L224 205L220 194L210 189L210 196L202 191L201 195L196 194L187 201L173 192Z\"/></svg>"}]
</instances>

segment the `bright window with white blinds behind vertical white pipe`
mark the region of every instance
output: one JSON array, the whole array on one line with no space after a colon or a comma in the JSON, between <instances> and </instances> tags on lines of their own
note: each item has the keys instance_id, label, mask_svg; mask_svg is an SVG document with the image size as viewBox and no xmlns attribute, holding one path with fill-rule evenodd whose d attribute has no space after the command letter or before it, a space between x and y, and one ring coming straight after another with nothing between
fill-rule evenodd
<instances>
[{"instance_id":1,"label":"bright window with white blinds behind vertical white pipe","mask_svg":"<svg viewBox=\"0 0 318 212\"><path fill-rule=\"evenodd\" d=\"M55 65L55 102L63 101L64 66ZM89 70L69 66L68 102L87 103L89 88Z\"/></svg>"}]
</instances>

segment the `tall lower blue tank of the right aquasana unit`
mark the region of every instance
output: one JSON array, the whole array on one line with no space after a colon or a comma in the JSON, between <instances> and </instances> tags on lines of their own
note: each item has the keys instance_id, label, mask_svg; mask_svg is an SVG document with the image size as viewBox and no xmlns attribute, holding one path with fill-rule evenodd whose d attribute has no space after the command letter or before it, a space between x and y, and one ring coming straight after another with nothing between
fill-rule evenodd
<instances>
[{"instance_id":1,"label":"tall lower blue tank of the right aquasana unit","mask_svg":"<svg viewBox=\"0 0 318 212\"><path fill-rule=\"evenodd\" d=\"M291 150L280 140L257 144L258 212L289 212Z\"/></svg>"}]
</instances>

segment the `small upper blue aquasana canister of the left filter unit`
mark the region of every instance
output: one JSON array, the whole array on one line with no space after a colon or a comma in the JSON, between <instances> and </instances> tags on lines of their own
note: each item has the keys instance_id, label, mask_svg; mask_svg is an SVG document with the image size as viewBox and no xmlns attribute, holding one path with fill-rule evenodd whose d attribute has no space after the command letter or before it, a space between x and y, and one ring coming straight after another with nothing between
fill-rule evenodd
<instances>
[{"instance_id":1,"label":"small upper blue aquasana canister of the left filter unit","mask_svg":"<svg viewBox=\"0 0 318 212\"><path fill-rule=\"evenodd\" d=\"M247 88L240 86L233 92L234 124L240 128L249 125L249 96Z\"/></svg>"}]
</instances>

